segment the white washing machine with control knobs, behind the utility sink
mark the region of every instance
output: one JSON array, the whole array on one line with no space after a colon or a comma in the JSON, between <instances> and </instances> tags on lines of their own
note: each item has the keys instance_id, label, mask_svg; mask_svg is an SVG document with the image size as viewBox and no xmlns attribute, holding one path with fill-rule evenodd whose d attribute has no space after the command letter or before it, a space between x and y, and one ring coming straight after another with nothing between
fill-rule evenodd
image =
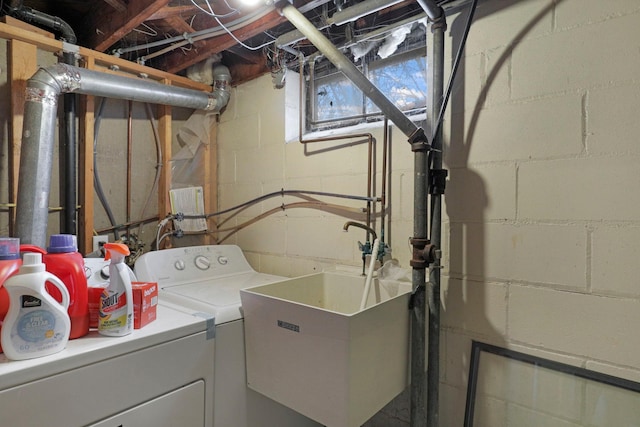
<instances>
[{"instance_id":1,"label":"white washing machine with control knobs, behind the utility sink","mask_svg":"<svg viewBox=\"0 0 640 427\"><path fill-rule=\"evenodd\" d=\"M247 387L240 289L284 277L256 272L235 245L148 252L138 280L158 282L159 304L207 319L215 341L213 427L319 427Z\"/></svg>"}]
</instances>

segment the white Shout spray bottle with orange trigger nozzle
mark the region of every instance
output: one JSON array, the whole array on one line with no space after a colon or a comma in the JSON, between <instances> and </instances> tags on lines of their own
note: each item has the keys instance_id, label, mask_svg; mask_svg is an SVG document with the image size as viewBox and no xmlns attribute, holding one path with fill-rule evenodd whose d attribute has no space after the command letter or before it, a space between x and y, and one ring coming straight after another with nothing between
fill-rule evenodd
<instances>
[{"instance_id":1,"label":"white Shout spray bottle with orange trigger nozzle","mask_svg":"<svg viewBox=\"0 0 640 427\"><path fill-rule=\"evenodd\" d=\"M109 264L109 285L100 295L98 332L111 337L121 337L133 331L133 293L129 269L124 257L129 248L122 243L105 243L104 259Z\"/></svg>"}]
</instances>

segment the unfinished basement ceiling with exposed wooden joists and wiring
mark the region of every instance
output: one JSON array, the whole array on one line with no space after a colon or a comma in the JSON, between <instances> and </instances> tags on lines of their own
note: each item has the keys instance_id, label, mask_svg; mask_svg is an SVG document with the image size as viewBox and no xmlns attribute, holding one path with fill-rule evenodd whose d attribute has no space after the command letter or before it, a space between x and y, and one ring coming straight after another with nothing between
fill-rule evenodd
<instances>
[{"instance_id":1,"label":"unfinished basement ceiling with exposed wooden joists and wiring","mask_svg":"<svg viewBox=\"0 0 640 427\"><path fill-rule=\"evenodd\" d=\"M335 45L423 14L417 1L396 0L352 22L330 25L336 12L358 2L297 0L294 6ZM276 49L274 40L294 27L273 6L248 7L240 0L4 0L4 13L7 4L59 17L73 28L80 46L167 72L186 74L190 66L214 58L229 67L234 85L273 71L283 58L294 61L296 52L316 52L304 39Z\"/></svg>"}]
</instances>

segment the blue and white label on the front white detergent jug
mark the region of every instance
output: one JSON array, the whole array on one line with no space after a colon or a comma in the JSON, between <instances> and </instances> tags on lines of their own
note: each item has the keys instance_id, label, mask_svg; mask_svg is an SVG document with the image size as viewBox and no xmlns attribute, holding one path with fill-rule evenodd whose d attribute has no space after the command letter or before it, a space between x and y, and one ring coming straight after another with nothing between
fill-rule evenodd
<instances>
[{"instance_id":1,"label":"blue and white label on the front white detergent jug","mask_svg":"<svg viewBox=\"0 0 640 427\"><path fill-rule=\"evenodd\" d=\"M56 332L56 315L40 309L42 301L31 295L20 297L20 311L11 331L18 353L40 352L56 347L64 334Z\"/></svg>"}]
</instances>

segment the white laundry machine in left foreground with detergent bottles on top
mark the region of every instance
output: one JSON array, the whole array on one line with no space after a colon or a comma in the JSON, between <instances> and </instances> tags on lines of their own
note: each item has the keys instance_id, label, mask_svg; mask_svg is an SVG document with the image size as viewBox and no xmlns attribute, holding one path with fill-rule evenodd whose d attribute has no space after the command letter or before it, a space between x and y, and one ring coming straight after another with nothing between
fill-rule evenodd
<instances>
[{"instance_id":1,"label":"white laundry machine in left foreground with detergent bottles on top","mask_svg":"<svg viewBox=\"0 0 640 427\"><path fill-rule=\"evenodd\" d=\"M49 356L0 354L0 426L210 426L208 335L201 317L158 306L155 321L124 337L92 330Z\"/></svg>"}]
</instances>

